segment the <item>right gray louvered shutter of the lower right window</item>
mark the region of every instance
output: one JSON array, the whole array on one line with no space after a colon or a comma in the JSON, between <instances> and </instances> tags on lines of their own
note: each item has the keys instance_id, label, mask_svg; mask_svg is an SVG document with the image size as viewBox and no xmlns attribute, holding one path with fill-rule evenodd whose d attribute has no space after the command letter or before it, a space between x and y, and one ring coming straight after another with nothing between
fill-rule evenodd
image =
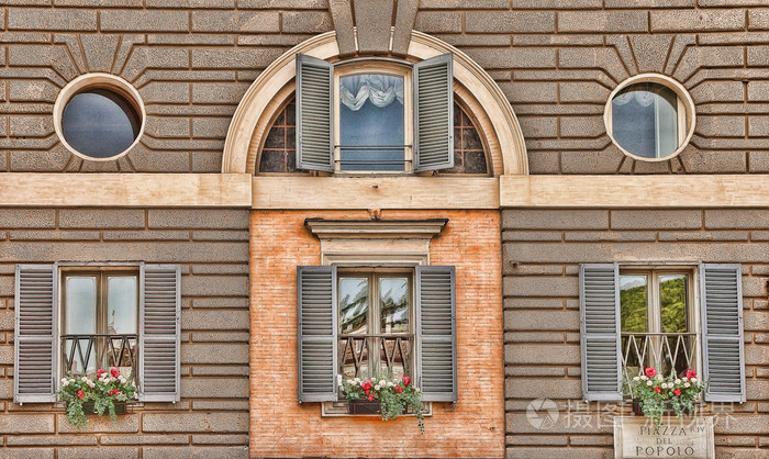
<instances>
[{"instance_id":1,"label":"right gray louvered shutter of the lower right window","mask_svg":"<svg viewBox=\"0 0 769 459\"><path fill-rule=\"evenodd\" d=\"M702 379L709 402L745 402L739 265L700 265Z\"/></svg>"}]
</instances>

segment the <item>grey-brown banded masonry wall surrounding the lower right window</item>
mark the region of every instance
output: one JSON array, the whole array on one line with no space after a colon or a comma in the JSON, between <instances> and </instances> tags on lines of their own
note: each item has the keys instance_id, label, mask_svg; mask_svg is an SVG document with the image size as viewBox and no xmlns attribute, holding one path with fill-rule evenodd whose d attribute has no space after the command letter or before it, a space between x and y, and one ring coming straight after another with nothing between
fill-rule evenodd
<instances>
[{"instance_id":1,"label":"grey-brown banded masonry wall surrounding the lower right window","mask_svg":"<svg viewBox=\"0 0 769 459\"><path fill-rule=\"evenodd\" d=\"M767 219L757 210L504 210L506 456L612 457L611 422L581 402L579 264L743 264L747 402L718 414L716 456L766 456L769 435ZM526 407L548 398L557 424L532 427ZM612 407L613 408L613 407ZM625 408L627 410L627 408ZM539 457L539 456L537 456Z\"/></svg>"}]
</instances>

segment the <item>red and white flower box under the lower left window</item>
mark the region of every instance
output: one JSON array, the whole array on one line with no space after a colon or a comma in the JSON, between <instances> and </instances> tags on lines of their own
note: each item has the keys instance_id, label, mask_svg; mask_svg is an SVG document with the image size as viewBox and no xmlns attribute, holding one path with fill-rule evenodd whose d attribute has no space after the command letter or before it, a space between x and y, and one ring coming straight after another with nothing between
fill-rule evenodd
<instances>
[{"instance_id":1,"label":"red and white flower box under the lower left window","mask_svg":"<svg viewBox=\"0 0 769 459\"><path fill-rule=\"evenodd\" d=\"M136 387L112 367L109 372L100 368L90 377L67 374L57 393L65 403L67 421L82 428L89 423L86 413L109 413L116 422L116 414L125 413L125 404L136 396Z\"/></svg>"}]
</instances>

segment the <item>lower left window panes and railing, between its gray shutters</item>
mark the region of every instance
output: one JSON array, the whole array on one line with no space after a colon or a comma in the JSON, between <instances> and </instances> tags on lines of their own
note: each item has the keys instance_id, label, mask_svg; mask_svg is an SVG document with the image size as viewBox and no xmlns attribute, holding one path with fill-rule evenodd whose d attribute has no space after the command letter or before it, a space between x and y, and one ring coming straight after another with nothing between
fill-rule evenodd
<instances>
[{"instance_id":1,"label":"lower left window panes and railing, between its gray shutters","mask_svg":"<svg viewBox=\"0 0 769 459\"><path fill-rule=\"evenodd\" d=\"M63 374L118 367L136 377L138 281L136 270L63 270Z\"/></svg>"}]
</instances>

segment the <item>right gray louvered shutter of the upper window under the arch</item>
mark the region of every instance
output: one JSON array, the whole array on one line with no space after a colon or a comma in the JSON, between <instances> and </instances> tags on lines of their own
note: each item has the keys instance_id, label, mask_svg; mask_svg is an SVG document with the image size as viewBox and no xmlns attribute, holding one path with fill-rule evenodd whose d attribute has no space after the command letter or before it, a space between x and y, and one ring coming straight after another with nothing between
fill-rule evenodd
<instances>
[{"instance_id":1,"label":"right gray louvered shutter of the upper window under the arch","mask_svg":"<svg viewBox=\"0 0 769 459\"><path fill-rule=\"evenodd\" d=\"M454 167L454 76L450 54L414 65L414 170Z\"/></svg>"}]
</instances>

